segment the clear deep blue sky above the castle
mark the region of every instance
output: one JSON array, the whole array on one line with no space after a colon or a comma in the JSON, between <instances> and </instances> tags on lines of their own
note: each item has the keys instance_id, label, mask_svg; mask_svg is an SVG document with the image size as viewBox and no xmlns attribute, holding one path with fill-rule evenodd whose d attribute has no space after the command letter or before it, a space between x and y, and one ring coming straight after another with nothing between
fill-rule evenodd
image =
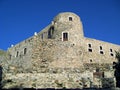
<instances>
[{"instance_id":1,"label":"clear deep blue sky above the castle","mask_svg":"<svg viewBox=\"0 0 120 90\"><path fill-rule=\"evenodd\" d=\"M86 37L120 45L120 0L0 0L0 49L31 37L60 12L79 15Z\"/></svg>"}]
</instances>

